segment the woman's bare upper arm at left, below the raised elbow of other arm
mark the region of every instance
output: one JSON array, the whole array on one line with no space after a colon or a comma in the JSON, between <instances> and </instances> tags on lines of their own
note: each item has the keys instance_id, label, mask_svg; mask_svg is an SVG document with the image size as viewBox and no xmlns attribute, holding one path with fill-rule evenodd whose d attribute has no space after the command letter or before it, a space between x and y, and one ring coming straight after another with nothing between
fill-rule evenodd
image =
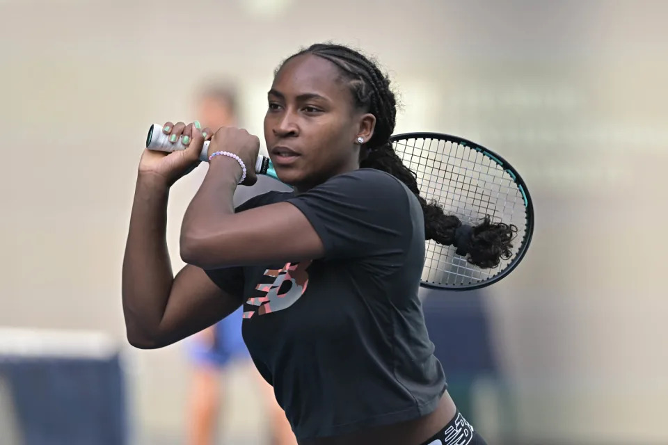
<instances>
[{"instance_id":1,"label":"woman's bare upper arm at left, below the raised elbow of other arm","mask_svg":"<svg viewBox=\"0 0 668 445\"><path fill-rule=\"evenodd\" d=\"M219 284L222 283L214 283L207 275L202 268L190 265L177 273L155 344L151 347L167 346L189 337L225 318L241 305L242 300L234 295L235 292L221 289Z\"/></svg>"}]
</instances>

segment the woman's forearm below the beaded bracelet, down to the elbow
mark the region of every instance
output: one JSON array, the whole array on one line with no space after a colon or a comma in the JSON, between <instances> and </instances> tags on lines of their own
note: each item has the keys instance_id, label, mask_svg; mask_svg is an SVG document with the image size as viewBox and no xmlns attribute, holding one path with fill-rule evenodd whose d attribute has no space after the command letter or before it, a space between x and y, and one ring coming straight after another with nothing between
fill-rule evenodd
<instances>
[{"instance_id":1,"label":"woman's forearm below the beaded bracelet, down to the elbow","mask_svg":"<svg viewBox=\"0 0 668 445\"><path fill-rule=\"evenodd\" d=\"M191 200L181 225L181 257L198 265L206 240L225 232L226 218L234 215L234 191L241 169L234 159L218 156L209 164L202 185Z\"/></svg>"}]
</instances>

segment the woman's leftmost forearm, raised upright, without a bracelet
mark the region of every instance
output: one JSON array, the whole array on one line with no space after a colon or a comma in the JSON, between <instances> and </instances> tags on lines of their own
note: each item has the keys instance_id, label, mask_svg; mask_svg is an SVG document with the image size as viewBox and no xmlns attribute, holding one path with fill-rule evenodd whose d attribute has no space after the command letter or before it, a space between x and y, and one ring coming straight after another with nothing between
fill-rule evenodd
<instances>
[{"instance_id":1,"label":"woman's leftmost forearm, raised upright, without a bracelet","mask_svg":"<svg viewBox=\"0 0 668 445\"><path fill-rule=\"evenodd\" d=\"M174 281L166 242L169 188L157 177L137 179L122 268L122 303L129 339L159 331Z\"/></svg>"}]
</instances>

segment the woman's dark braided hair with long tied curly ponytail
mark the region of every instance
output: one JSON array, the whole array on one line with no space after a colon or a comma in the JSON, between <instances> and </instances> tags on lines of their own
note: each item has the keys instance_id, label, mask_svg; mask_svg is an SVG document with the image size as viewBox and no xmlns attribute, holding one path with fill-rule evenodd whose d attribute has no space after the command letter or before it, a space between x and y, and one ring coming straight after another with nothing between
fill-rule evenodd
<instances>
[{"instance_id":1,"label":"woman's dark braided hair with long tied curly ponytail","mask_svg":"<svg viewBox=\"0 0 668 445\"><path fill-rule=\"evenodd\" d=\"M459 218L445 215L437 202L428 203L420 196L417 175L404 165L390 143L390 136L395 130L397 102L390 88L390 80L374 61L340 44L313 44L287 58L283 64L302 54L313 54L336 65L349 82L355 106L376 117L374 134L360 149L360 168L387 172L415 193L424 211L426 239L443 245L456 243L459 248L462 247L460 244L466 245L468 261L481 268L496 267L500 259L511 257L511 241L517 232L514 225L491 223L489 216L486 216L481 224L465 232L468 239L462 239L461 234L455 235L462 225Z\"/></svg>"}]
</instances>

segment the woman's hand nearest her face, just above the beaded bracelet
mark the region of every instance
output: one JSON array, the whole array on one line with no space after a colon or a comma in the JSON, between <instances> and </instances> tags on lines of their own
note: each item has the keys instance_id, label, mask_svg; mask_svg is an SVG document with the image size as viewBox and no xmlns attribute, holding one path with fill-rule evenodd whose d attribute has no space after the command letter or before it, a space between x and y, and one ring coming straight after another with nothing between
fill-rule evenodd
<instances>
[{"instance_id":1,"label":"woman's hand nearest her face, just above the beaded bracelet","mask_svg":"<svg viewBox=\"0 0 668 445\"><path fill-rule=\"evenodd\" d=\"M222 127L218 129L209 143L209 156L215 152L230 152L236 154L244 161L246 165L246 179L244 186L252 186L257 181L255 175L255 162L257 154L260 152L260 139L244 129L234 127ZM211 162L217 161L216 158L228 158L229 156L216 156ZM236 163L232 159L232 162Z\"/></svg>"}]
</instances>

